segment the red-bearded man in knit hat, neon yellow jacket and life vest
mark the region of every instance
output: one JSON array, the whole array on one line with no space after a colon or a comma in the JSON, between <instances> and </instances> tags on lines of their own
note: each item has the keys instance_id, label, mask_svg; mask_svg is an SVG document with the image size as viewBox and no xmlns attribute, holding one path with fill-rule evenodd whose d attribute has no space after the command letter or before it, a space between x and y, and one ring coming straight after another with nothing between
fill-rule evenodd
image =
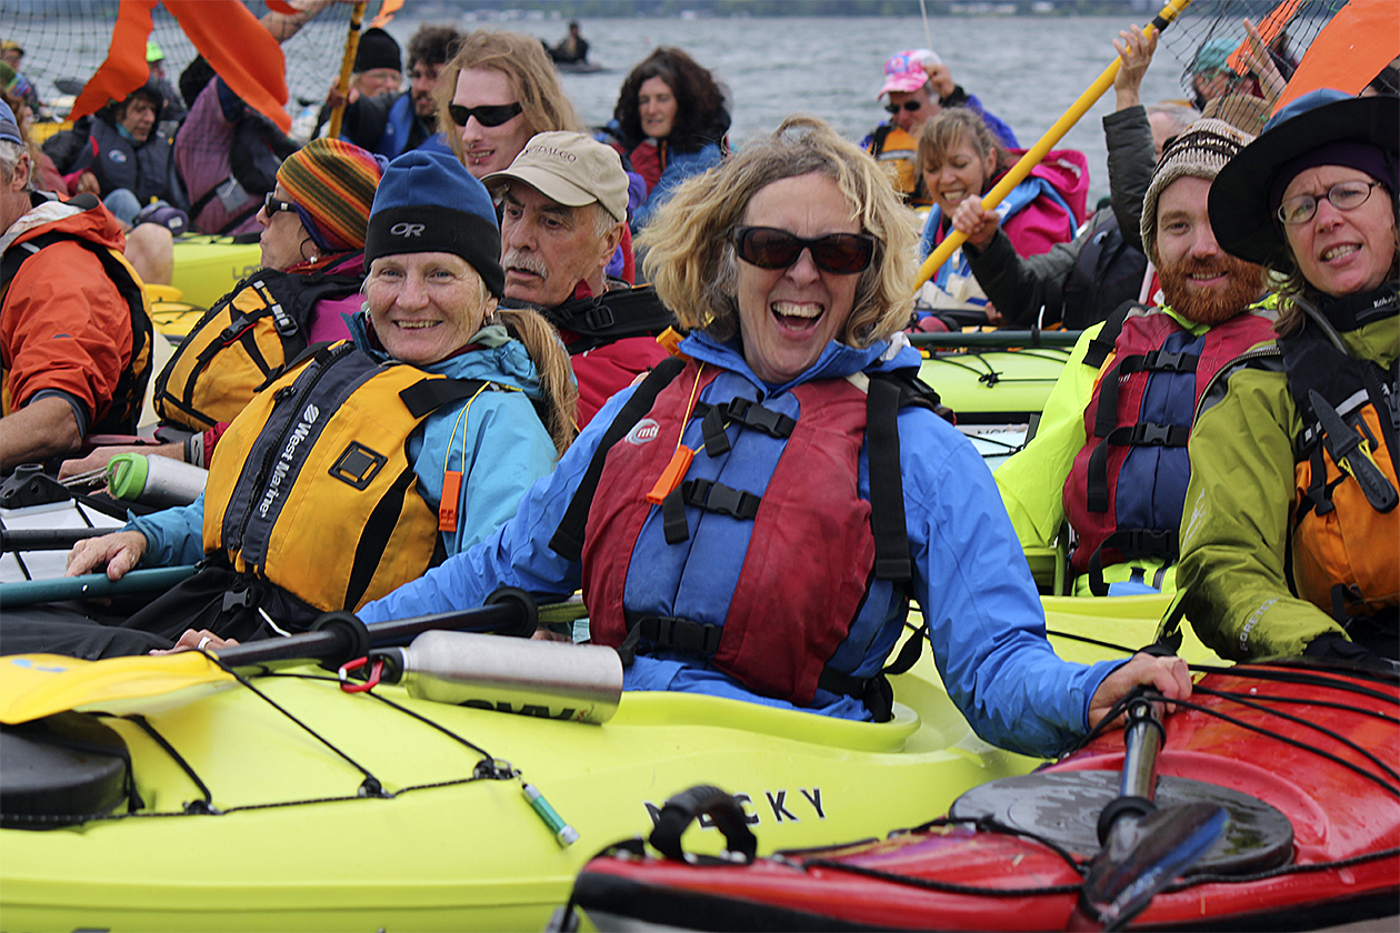
<instances>
[{"instance_id":1,"label":"red-bearded man in knit hat, neon yellow jacket and life vest","mask_svg":"<svg viewBox=\"0 0 1400 933\"><path fill-rule=\"evenodd\" d=\"M1162 305L1124 304L1084 332L1036 436L995 473L1023 547L1053 547L1068 520L1075 594L1175 590L1196 401L1277 318L1253 305L1263 269L1224 252L1207 213L1215 176L1252 138L1203 119L1163 150L1142 203Z\"/></svg>"}]
</instances>

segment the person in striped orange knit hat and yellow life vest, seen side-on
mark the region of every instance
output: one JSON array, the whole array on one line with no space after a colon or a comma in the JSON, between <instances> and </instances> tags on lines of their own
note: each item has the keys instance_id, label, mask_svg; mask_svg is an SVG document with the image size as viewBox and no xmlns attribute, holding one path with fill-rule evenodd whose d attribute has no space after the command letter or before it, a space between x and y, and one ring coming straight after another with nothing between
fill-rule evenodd
<instances>
[{"instance_id":1,"label":"person in striped orange knit hat and yellow life vest, seen side-on","mask_svg":"<svg viewBox=\"0 0 1400 933\"><path fill-rule=\"evenodd\" d=\"M224 428L274 369L309 344L349 339L344 316L360 309L365 229L384 165L342 140L312 140L283 162L258 211L263 269L214 304L155 379L157 436L167 442L98 448L66 462L59 476L127 452L207 467Z\"/></svg>"}]
</instances>

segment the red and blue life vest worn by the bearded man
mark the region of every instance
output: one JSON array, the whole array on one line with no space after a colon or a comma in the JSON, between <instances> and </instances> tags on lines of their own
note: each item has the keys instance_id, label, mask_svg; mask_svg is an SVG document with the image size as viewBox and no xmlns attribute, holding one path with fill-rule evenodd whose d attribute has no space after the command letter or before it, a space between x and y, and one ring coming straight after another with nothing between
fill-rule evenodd
<instances>
[{"instance_id":1,"label":"red and blue life vest worn by the bearded man","mask_svg":"<svg viewBox=\"0 0 1400 933\"><path fill-rule=\"evenodd\" d=\"M1105 565L1176 560L1191 476L1186 442L1201 393L1228 362L1274 336L1277 316L1250 308L1193 334L1161 308L1128 305L1121 313L1085 358L1102 368L1084 410L1088 441L1064 484L1064 511L1078 534L1071 564L1091 575L1100 596ZM1105 365L1109 347L1114 355Z\"/></svg>"}]
</instances>

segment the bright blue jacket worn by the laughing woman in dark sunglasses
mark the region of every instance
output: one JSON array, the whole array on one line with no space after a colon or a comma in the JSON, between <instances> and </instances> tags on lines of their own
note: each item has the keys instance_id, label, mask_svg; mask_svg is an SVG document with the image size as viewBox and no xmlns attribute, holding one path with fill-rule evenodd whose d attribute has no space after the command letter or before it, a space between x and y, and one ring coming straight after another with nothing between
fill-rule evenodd
<instances>
[{"instance_id":1,"label":"bright blue jacket worn by the laughing woman in dark sunglasses","mask_svg":"<svg viewBox=\"0 0 1400 933\"><path fill-rule=\"evenodd\" d=\"M745 362L738 341L720 344L692 334L680 348L757 387L759 399L792 385L857 372L917 366L909 347L892 361L889 344L855 350L830 343L794 383L769 386ZM559 469L521 499L515 518L487 541L428 571L389 596L365 604L367 622L479 606L497 586L519 586L540 597L564 597L580 586L581 565L549 547L564 509L592 460L602 435L631 394L613 396L584 428ZM699 424L693 424L699 429ZM899 413L904 511L914 561L913 592L930 625L934 659L952 699L987 741L1036 755L1065 748L1088 726L1088 705L1099 683L1121 662L1092 667L1061 662L1046 641L1044 615L1021 544L1011 529L991 474L972 443L942 418L920 407ZM860 490L869 498L869 466L861 453ZM654 506L655 508L655 506ZM813 546L818 546L813 543ZM879 655L893 645L903 624L892 607L881 636L868 646ZM847 646L843 646L847 648ZM841 650L841 649L839 649ZM759 697L701 660L661 652L638 656L627 669L630 690L685 690L785 706ZM813 712L868 718L858 701L832 694Z\"/></svg>"}]
</instances>

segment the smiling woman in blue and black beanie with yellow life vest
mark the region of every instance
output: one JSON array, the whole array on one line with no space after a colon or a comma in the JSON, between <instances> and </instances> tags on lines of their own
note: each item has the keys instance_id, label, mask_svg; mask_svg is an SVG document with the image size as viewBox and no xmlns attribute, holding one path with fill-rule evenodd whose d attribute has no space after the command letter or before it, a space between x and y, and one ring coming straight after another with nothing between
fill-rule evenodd
<instances>
[{"instance_id":1,"label":"smiling woman in blue and black beanie with yellow life vest","mask_svg":"<svg viewBox=\"0 0 1400 933\"><path fill-rule=\"evenodd\" d=\"M6 650L99 657L169 646L186 628L182 645L216 648L305 628L486 539L568 446L577 397L549 323L497 308L500 249L491 200L456 159L391 162L351 340L253 399L203 497L69 555L70 575L106 567L113 579L139 564L209 567L76 643L17 648L7 625Z\"/></svg>"}]
</instances>

